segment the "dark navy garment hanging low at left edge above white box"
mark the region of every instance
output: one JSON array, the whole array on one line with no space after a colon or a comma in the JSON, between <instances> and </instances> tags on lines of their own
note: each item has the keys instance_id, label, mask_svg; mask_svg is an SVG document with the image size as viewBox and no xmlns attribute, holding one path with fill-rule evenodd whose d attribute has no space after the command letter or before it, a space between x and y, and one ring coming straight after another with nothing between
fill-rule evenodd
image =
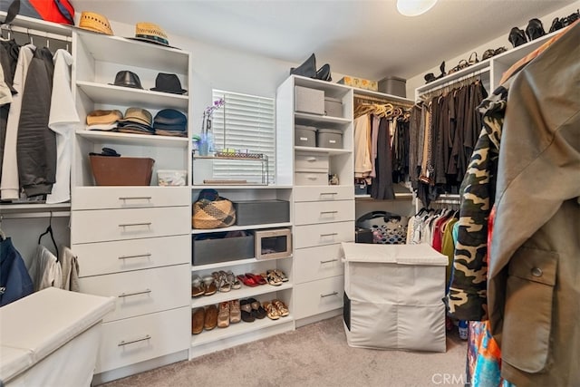
<instances>
[{"instance_id":1,"label":"dark navy garment hanging low at left edge above white box","mask_svg":"<svg viewBox=\"0 0 580 387\"><path fill-rule=\"evenodd\" d=\"M34 292L33 281L24 259L7 237L0 240L0 306L8 305Z\"/></svg>"}]
</instances>

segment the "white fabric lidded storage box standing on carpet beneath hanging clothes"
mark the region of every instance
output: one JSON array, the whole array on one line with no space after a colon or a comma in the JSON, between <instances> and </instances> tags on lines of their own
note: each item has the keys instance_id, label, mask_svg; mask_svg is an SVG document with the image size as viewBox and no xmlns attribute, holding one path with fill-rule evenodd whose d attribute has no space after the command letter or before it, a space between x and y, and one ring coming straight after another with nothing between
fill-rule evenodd
<instances>
[{"instance_id":1,"label":"white fabric lidded storage box standing on carpet beneath hanging clothes","mask_svg":"<svg viewBox=\"0 0 580 387\"><path fill-rule=\"evenodd\" d=\"M342 243L350 346L445 352L445 266L427 244Z\"/></svg>"}]
</instances>

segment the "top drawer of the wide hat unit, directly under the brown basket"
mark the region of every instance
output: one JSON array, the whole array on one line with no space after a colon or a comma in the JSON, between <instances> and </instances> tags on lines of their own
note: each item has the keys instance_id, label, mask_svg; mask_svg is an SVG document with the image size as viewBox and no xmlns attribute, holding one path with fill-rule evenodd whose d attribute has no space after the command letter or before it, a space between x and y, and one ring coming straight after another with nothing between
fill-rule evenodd
<instances>
[{"instance_id":1,"label":"top drawer of the wide hat unit, directly under the brown basket","mask_svg":"<svg viewBox=\"0 0 580 387\"><path fill-rule=\"evenodd\" d=\"M71 208L144 208L188 206L189 187L76 187Z\"/></svg>"}]
</instances>

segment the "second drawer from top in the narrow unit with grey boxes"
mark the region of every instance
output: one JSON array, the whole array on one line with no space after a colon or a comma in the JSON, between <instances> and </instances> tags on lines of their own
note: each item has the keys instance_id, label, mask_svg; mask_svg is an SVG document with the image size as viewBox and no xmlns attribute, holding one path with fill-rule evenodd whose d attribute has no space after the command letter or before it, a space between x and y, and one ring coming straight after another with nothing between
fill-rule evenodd
<instances>
[{"instance_id":1,"label":"second drawer from top in the narrow unit with grey boxes","mask_svg":"<svg viewBox=\"0 0 580 387\"><path fill-rule=\"evenodd\" d=\"M354 220L354 200L307 201L294 207L295 225Z\"/></svg>"}]
</instances>

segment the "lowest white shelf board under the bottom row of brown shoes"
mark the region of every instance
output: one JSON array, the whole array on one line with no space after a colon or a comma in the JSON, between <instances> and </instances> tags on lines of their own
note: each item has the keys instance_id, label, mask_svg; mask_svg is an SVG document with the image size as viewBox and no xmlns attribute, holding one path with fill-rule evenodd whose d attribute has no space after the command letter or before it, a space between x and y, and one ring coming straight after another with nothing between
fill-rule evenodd
<instances>
[{"instance_id":1,"label":"lowest white shelf board under the bottom row of brown shoes","mask_svg":"<svg viewBox=\"0 0 580 387\"><path fill-rule=\"evenodd\" d=\"M271 320L268 317L265 317L261 320L255 320L252 323L240 321L236 324L229 324L227 328L215 327L211 331L203 331L200 334L192 334L191 346L196 347L207 343L214 343L218 342L219 340L224 340L241 334L248 334L287 323L294 324L294 316L292 314L288 314L285 317L280 317L277 320Z\"/></svg>"}]
</instances>

